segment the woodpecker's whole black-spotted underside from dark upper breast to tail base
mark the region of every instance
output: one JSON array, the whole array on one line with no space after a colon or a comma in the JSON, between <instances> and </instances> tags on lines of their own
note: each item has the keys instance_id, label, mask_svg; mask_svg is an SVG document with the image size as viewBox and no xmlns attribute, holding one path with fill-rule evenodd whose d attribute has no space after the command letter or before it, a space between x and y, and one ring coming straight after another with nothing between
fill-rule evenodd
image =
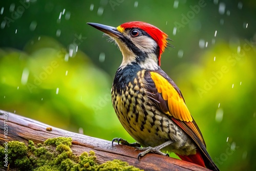
<instances>
[{"instance_id":1,"label":"woodpecker's whole black-spotted underside from dark upper breast to tail base","mask_svg":"<svg viewBox=\"0 0 256 171\"><path fill-rule=\"evenodd\" d=\"M125 130L142 146L173 140L168 151L181 155L196 153L196 145L166 114L168 101L158 93L151 72L135 64L119 68L113 82L112 102Z\"/></svg>"}]
</instances>

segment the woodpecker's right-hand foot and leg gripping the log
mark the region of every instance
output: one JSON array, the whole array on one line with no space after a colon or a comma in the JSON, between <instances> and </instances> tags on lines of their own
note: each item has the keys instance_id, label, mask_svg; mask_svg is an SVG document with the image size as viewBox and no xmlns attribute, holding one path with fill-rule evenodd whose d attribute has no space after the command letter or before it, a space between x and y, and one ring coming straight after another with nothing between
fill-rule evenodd
<instances>
[{"instance_id":1,"label":"woodpecker's right-hand foot and leg gripping the log","mask_svg":"<svg viewBox=\"0 0 256 171\"><path fill-rule=\"evenodd\" d=\"M160 150L170 144L172 144L173 141L166 141L158 146L155 146L155 147L151 147L151 146L148 146L148 147L136 147L137 149L136 150L140 150L140 151L143 151L141 153L138 154L138 160L140 159L140 157L143 157L145 156L147 153L157 153L157 154L160 154L162 156L169 156L168 154L166 153L163 153L161 152Z\"/></svg>"}]
</instances>

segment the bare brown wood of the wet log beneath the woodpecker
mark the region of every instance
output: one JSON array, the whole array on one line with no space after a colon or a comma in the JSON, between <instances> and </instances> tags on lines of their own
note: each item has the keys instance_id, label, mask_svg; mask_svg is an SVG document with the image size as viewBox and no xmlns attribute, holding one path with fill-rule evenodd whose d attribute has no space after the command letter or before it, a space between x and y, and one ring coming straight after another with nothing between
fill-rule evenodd
<instances>
[{"instance_id":1,"label":"bare brown wood of the wet log beneath the woodpecker","mask_svg":"<svg viewBox=\"0 0 256 171\"><path fill-rule=\"evenodd\" d=\"M4 112L0 115L0 136L1 145L5 142L4 137ZM28 144L28 140L34 141L35 144L43 143L48 138L71 137L71 149L75 155L93 150L97 156L99 164L113 159L120 159L128 162L130 165L144 170L208 170L194 163L181 161L178 159L161 156L157 154L147 154L140 160L137 159L139 151L136 148L126 145L111 145L110 141L99 138L89 137L69 131L61 130L56 127L19 116L10 112L8 113L8 141L21 141ZM47 131L47 127L52 127L52 131ZM2 160L2 159L1 159Z\"/></svg>"}]
</instances>

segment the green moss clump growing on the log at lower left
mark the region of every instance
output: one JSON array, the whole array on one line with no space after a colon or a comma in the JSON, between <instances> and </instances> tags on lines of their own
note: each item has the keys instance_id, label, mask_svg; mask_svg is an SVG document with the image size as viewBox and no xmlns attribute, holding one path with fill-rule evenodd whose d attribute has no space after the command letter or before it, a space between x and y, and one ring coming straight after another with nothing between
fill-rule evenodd
<instances>
[{"instance_id":1,"label":"green moss clump growing on the log at lower left","mask_svg":"<svg viewBox=\"0 0 256 171\"><path fill-rule=\"evenodd\" d=\"M8 154L9 167L16 170L140 170L120 160L108 161L99 165L93 151L75 156L72 153L71 145L72 139L66 137L50 138L44 144L37 145L33 141L29 141L27 146L23 142L10 141L7 153L6 148L0 146L0 157L3 159ZM0 164L1 167L7 168L4 160L1 160Z\"/></svg>"}]
</instances>

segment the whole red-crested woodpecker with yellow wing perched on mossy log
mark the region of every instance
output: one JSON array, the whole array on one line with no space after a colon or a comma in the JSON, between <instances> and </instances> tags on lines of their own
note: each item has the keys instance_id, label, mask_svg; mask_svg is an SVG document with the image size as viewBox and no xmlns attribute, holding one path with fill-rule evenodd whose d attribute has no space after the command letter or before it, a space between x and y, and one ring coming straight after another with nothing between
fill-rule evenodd
<instances>
[{"instance_id":1,"label":"whole red-crested woodpecker with yellow wing perched on mossy log","mask_svg":"<svg viewBox=\"0 0 256 171\"><path fill-rule=\"evenodd\" d=\"M142 152L177 154L182 160L219 170L206 151L202 133L187 109L181 91L160 68L170 40L157 27L127 22L118 27L87 23L108 35L122 53L112 85L112 103L124 129L137 141L113 142L136 146ZM141 147L142 146L142 147Z\"/></svg>"}]
</instances>

